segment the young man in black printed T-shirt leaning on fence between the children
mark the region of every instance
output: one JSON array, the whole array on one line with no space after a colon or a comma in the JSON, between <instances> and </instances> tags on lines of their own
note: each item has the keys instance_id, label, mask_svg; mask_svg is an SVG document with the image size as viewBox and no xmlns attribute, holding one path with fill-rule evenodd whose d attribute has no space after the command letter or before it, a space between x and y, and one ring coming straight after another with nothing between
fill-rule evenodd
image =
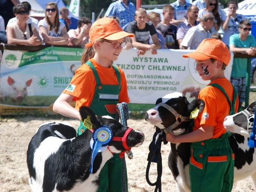
<instances>
[{"instance_id":1,"label":"young man in black printed T-shirt leaning on fence between the children","mask_svg":"<svg viewBox=\"0 0 256 192\"><path fill-rule=\"evenodd\" d=\"M152 23L147 22L147 15L145 8L138 8L135 11L135 21L130 22L127 26L127 32L135 34L132 37L132 46L137 48L138 55L144 55L147 50L150 50L152 54L157 54L157 49L160 49L161 45L158 40L155 27ZM149 44L149 37L153 40L153 44Z\"/></svg>"}]
</instances>

